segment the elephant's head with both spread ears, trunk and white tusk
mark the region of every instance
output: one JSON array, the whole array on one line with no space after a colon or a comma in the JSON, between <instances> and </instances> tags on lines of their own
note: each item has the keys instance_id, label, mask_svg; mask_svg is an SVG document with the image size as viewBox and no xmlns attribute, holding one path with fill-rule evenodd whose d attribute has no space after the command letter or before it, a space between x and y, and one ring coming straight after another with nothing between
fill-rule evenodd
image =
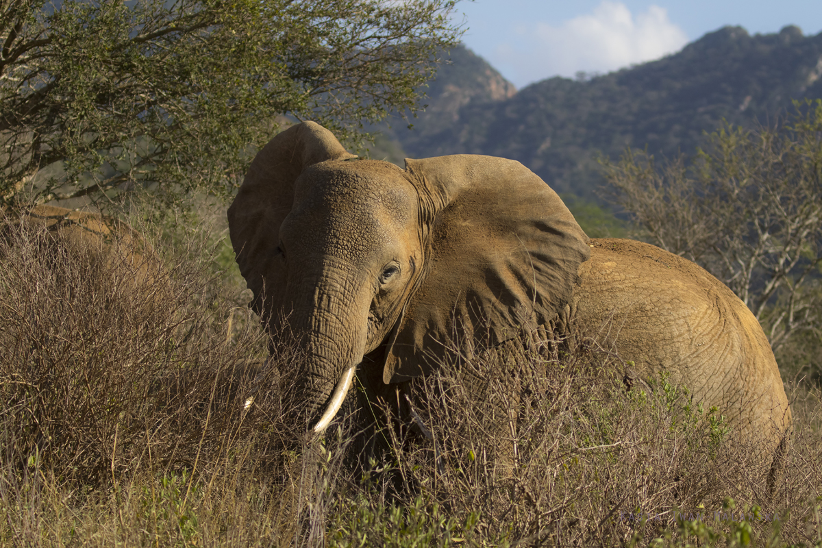
<instances>
[{"instance_id":1,"label":"elephant's head with both spread ears, trunk and white tusk","mask_svg":"<svg viewBox=\"0 0 822 548\"><path fill-rule=\"evenodd\" d=\"M477 155L357 159L314 122L256 155L229 208L252 306L295 336L309 417L322 431L354 372L378 356L387 383L423 375L553 320L588 238L529 169ZM287 328L287 329L286 329ZM379 352L377 352L379 351Z\"/></svg>"}]
</instances>

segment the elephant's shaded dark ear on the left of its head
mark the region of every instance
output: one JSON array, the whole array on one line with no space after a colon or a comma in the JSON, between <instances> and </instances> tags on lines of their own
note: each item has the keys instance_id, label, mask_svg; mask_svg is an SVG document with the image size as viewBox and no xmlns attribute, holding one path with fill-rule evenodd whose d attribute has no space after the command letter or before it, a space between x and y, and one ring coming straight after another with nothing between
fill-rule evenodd
<instances>
[{"instance_id":1,"label":"elephant's shaded dark ear on the left of its head","mask_svg":"<svg viewBox=\"0 0 822 548\"><path fill-rule=\"evenodd\" d=\"M285 272L275 263L279 227L293 206L300 173L314 163L356 157L316 122L289 127L257 153L228 213L231 245L240 273L254 292L257 314L280 304Z\"/></svg>"}]
</instances>

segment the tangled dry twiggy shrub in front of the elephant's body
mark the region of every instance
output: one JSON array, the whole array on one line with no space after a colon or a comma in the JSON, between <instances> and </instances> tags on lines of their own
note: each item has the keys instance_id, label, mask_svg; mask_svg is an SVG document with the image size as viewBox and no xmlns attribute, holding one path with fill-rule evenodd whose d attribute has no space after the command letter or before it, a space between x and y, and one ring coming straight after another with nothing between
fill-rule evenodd
<instances>
[{"instance_id":1,"label":"tangled dry twiggy shrub in front of the elephant's body","mask_svg":"<svg viewBox=\"0 0 822 548\"><path fill-rule=\"evenodd\" d=\"M469 361L414 381L412 417L395 417L382 432L389 449L380 473L366 475L367 503L362 488L358 502L341 499L332 545L385 544L387 532L399 536L421 513L438 531L434 546L454 538L469 546L644 546L654 538L659 546L746 546L727 539L762 543L778 527L784 540L816 540L818 426L797 430L772 496L761 451L737 441L720 410L697 405L667 375L635 379L632 363L579 345L521 362L515 396L497 365ZM515 420L500 428L506 405ZM363 504L367 516L385 517L365 518Z\"/></svg>"}]
</instances>

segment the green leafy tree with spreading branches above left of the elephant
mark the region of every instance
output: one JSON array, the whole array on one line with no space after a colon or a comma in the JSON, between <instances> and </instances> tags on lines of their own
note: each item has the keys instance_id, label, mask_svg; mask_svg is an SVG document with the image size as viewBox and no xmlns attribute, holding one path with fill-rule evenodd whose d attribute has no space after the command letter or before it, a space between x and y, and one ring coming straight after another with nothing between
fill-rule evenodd
<instances>
[{"instance_id":1,"label":"green leafy tree with spreading branches above left of the elephant","mask_svg":"<svg viewBox=\"0 0 822 548\"><path fill-rule=\"evenodd\" d=\"M227 192L275 117L413 112L456 0L0 0L0 207Z\"/></svg>"}]
</instances>

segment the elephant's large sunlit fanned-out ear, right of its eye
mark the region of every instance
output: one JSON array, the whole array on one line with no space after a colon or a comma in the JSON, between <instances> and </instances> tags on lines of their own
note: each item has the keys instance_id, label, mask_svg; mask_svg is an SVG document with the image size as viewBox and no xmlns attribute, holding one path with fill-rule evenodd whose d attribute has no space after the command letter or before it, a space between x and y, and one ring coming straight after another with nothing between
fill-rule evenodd
<instances>
[{"instance_id":1,"label":"elephant's large sunlit fanned-out ear, right of its eye","mask_svg":"<svg viewBox=\"0 0 822 548\"><path fill-rule=\"evenodd\" d=\"M537 329L572 297L589 239L556 192L514 160L406 160L423 216L425 268L387 352L383 380L432 371Z\"/></svg>"}]
</instances>

